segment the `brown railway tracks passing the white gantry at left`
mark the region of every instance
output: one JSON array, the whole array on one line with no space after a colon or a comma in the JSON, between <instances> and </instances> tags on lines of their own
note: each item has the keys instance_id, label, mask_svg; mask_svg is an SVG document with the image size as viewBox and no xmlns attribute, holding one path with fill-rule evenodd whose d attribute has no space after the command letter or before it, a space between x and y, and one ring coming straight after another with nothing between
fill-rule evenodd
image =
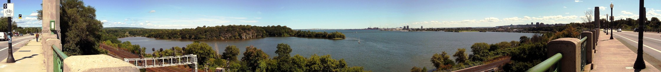
<instances>
[{"instance_id":1,"label":"brown railway tracks passing the white gantry at left","mask_svg":"<svg viewBox=\"0 0 661 72\"><path fill-rule=\"evenodd\" d=\"M108 45L104 45L104 44L101 44L99 46L100 46L100 48L102 48L104 50L108 50L108 53L110 53L114 56L120 56L120 57L115 57L115 58L140 58L140 56L138 54L133 54L133 53L128 52L126 50L121 50L121 49L118 49L118 48L115 48L115 47L112 47L112 46L108 46ZM124 59L121 59L121 60L124 60ZM153 63L153 61L149 61L149 60L147 62L148 63L149 62ZM141 63L139 63L139 64L141 64ZM146 68L146 69L147 69L147 71L150 71L150 72L189 72L189 71L186 71L184 69L178 69L178 68L175 68L175 67L151 67L151 68Z\"/></svg>"}]
</instances>

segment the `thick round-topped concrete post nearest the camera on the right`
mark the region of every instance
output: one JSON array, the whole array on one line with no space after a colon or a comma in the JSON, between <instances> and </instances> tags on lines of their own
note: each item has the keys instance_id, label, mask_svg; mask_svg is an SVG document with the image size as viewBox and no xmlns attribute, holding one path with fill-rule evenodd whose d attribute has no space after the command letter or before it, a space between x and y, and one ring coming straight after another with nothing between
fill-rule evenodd
<instances>
[{"instance_id":1,"label":"thick round-topped concrete post nearest the camera on the right","mask_svg":"<svg viewBox=\"0 0 661 72\"><path fill-rule=\"evenodd\" d=\"M547 47L547 57L551 57L557 53L563 54L563 59L560 60L559 67L561 72L578 72L580 71L580 39L576 38L560 38L549 41Z\"/></svg>"}]
</instances>

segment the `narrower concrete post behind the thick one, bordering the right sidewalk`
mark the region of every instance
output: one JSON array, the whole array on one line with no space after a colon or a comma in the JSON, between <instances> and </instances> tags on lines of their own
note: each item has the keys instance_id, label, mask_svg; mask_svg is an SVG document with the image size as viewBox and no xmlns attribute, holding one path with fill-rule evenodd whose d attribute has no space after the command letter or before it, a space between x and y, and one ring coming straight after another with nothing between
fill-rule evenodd
<instances>
[{"instance_id":1,"label":"narrower concrete post behind the thick one, bordering the right sidewalk","mask_svg":"<svg viewBox=\"0 0 661 72\"><path fill-rule=\"evenodd\" d=\"M590 31L594 31L594 30L590 30ZM594 49L594 45L592 45L592 44L593 44L595 41L593 41L593 40L594 40L594 37L592 37L593 35L594 35L594 34L593 34L592 32L589 32L589 31L584 31L583 33L580 33L580 38L588 37L588 39L585 40L585 48L586 48L586 51L588 51L588 52L587 52L588 54L586 54L586 56L587 56L587 58L588 58L588 59L587 59L587 60L588 60L587 63L592 63L592 58L594 58L594 52L593 52L593 51L594 51L594 50L593 50L593 49ZM579 44L580 44L580 43L579 43ZM590 67L590 69L593 69L593 68Z\"/></svg>"}]
</instances>

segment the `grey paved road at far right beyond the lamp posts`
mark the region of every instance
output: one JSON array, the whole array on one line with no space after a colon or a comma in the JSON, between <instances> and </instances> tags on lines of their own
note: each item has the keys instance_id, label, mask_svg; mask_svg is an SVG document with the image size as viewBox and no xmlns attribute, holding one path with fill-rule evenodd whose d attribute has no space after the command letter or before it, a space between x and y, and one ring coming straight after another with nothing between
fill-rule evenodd
<instances>
[{"instance_id":1,"label":"grey paved road at far right beyond the lamp posts","mask_svg":"<svg viewBox=\"0 0 661 72\"><path fill-rule=\"evenodd\" d=\"M625 43L625 45L629 43L629 45L638 48L638 32L614 31L613 33L615 33L615 35L613 35L613 38L622 39L621 42ZM661 60L661 33L644 32L642 41L643 41L642 45L644 46L642 48L643 52L649 54L650 56L653 56L657 60Z\"/></svg>"}]
</instances>

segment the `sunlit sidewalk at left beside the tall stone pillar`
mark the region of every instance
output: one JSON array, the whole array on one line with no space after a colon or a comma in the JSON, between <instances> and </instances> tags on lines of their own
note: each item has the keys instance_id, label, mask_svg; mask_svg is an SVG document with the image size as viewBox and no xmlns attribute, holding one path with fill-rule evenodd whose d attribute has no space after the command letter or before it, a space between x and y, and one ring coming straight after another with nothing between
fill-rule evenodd
<instances>
[{"instance_id":1,"label":"sunlit sidewalk at left beside the tall stone pillar","mask_svg":"<svg viewBox=\"0 0 661 72\"><path fill-rule=\"evenodd\" d=\"M46 72L42 43L32 39L14 52L15 63L0 62L0 72Z\"/></svg>"}]
</instances>

